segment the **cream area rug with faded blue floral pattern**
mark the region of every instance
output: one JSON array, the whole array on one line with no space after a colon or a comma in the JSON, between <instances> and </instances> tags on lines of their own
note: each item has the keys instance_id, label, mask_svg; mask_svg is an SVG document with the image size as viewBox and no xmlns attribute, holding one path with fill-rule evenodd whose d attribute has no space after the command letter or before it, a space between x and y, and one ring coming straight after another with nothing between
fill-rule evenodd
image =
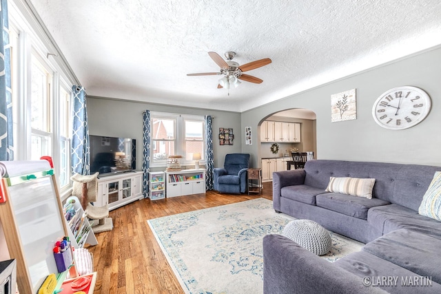
<instances>
[{"instance_id":1,"label":"cream area rug with faded blue floral pattern","mask_svg":"<svg viewBox=\"0 0 441 294\"><path fill-rule=\"evenodd\" d=\"M263 293L264 235L294 220L257 198L147 220L185 293ZM334 262L362 243L331 233Z\"/></svg>"}]
</instances>

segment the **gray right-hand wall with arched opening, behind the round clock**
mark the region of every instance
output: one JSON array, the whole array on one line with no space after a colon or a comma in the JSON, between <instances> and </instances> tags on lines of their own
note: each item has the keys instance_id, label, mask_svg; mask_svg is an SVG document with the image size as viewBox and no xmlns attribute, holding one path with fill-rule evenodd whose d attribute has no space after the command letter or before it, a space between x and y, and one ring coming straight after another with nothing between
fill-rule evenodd
<instances>
[{"instance_id":1,"label":"gray right-hand wall with arched opening, behind the round clock","mask_svg":"<svg viewBox=\"0 0 441 294\"><path fill-rule=\"evenodd\" d=\"M253 138L258 138L258 125L271 114L291 108L311 109L317 116L316 158L441 165L440 64L441 48L415 54L243 112L242 128L252 127ZM383 92L402 85L426 91L431 96L431 112L410 129L384 129L373 120L372 105ZM331 123L331 94L353 88L357 119ZM244 144L242 151L254 154L252 164L260 166L260 144Z\"/></svg>"}]
</instances>

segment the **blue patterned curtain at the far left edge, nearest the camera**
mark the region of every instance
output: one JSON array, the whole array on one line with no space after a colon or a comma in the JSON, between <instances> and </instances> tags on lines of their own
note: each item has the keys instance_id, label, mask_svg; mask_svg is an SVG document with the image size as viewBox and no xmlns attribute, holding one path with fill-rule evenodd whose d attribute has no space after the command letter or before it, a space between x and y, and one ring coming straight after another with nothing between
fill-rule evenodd
<instances>
[{"instance_id":1,"label":"blue patterned curtain at the far left edge, nearest the camera","mask_svg":"<svg viewBox=\"0 0 441 294\"><path fill-rule=\"evenodd\" d=\"M11 59L8 1L1 0L0 23L0 160L14 160L12 129Z\"/></svg>"}]
</instances>

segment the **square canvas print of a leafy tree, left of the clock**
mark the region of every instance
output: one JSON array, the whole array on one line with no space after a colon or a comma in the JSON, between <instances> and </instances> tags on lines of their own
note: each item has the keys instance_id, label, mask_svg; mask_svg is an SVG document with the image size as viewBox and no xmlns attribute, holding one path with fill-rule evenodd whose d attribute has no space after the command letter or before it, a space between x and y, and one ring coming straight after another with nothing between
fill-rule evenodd
<instances>
[{"instance_id":1,"label":"square canvas print of a leafy tree, left of the clock","mask_svg":"<svg viewBox=\"0 0 441 294\"><path fill-rule=\"evenodd\" d=\"M331 122L357 119L356 90L331 95Z\"/></svg>"}]
</instances>

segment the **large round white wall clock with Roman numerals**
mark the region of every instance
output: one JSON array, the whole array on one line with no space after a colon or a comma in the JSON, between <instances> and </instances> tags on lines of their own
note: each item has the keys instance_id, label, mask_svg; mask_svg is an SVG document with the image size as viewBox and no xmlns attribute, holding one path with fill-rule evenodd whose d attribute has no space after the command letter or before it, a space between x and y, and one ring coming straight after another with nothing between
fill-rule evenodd
<instances>
[{"instance_id":1,"label":"large round white wall clock with Roman numerals","mask_svg":"<svg viewBox=\"0 0 441 294\"><path fill-rule=\"evenodd\" d=\"M429 114L431 100L418 87L395 87L384 92L373 103L372 116L387 129L407 129L421 123Z\"/></svg>"}]
</instances>

